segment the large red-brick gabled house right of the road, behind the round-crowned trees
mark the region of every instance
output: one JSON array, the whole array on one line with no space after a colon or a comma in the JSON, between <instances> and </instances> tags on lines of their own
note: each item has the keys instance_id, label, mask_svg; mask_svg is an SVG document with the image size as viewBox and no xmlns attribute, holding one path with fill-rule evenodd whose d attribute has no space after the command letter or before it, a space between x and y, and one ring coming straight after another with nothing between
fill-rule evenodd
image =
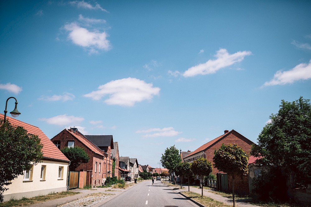
<instances>
[{"instance_id":1,"label":"large red-brick gabled house right of the road, behind the round-crowned trees","mask_svg":"<svg viewBox=\"0 0 311 207\"><path fill-rule=\"evenodd\" d=\"M250 153L251 151L251 145L255 144L254 142L250 141L248 138L244 137L240 133L231 130L230 132L228 130L224 131L225 133L210 142L207 142L206 144L200 146L195 151L193 151L188 156L184 157L183 160L186 162L193 162L194 160L199 159L200 157L204 157L207 160L211 161L213 164L213 157L214 157L214 151L218 150L222 144L237 144L239 147L241 147L246 153ZM213 167L213 174L216 173L223 173L218 171L215 167ZM202 178L198 178L202 179ZM231 191L231 180L232 178L228 175L228 190ZM237 193L241 194L248 194L248 176L235 176L234 178L234 190Z\"/></svg>"}]
</instances>

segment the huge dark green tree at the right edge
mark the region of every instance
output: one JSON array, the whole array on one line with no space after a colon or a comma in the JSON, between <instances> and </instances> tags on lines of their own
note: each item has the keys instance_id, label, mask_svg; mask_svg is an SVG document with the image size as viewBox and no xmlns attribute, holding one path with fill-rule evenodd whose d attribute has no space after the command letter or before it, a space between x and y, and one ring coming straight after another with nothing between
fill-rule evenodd
<instances>
[{"instance_id":1,"label":"huge dark green tree at the right edge","mask_svg":"<svg viewBox=\"0 0 311 207\"><path fill-rule=\"evenodd\" d=\"M251 151L255 157L262 156L258 163L270 166L269 174L263 174L260 179L271 180L268 184L277 182L272 184L274 190L267 198L282 195L280 191L284 190L284 184L279 182L280 179L274 179L280 177L277 173L282 173L285 178L282 182L286 182L287 175L292 173L294 183L305 187L311 184L310 100L303 97L292 102L282 100L279 107L278 113L270 116L271 122L259 134L258 146L253 146Z\"/></svg>"}]
</instances>

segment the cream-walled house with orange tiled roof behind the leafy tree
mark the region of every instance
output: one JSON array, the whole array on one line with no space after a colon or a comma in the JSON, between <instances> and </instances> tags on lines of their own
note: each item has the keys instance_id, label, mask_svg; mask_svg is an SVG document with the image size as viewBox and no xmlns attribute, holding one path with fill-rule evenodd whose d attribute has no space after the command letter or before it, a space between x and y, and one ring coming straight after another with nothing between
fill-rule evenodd
<instances>
[{"instance_id":1,"label":"cream-walled house with orange tiled roof behind the leafy tree","mask_svg":"<svg viewBox=\"0 0 311 207\"><path fill-rule=\"evenodd\" d=\"M0 114L0 119L4 115ZM31 198L35 196L48 195L50 193L67 191L67 175L69 160L67 157L49 140L49 138L33 125L13 119L6 118L12 126L23 127L27 133L37 135L43 145L43 158L41 163L31 164L30 170L24 170L23 175L17 176L11 184L5 186L7 191L3 192L4 202L11 199ZM18 163L14 163L18 164Z\"/></svg>"}]
</instances>

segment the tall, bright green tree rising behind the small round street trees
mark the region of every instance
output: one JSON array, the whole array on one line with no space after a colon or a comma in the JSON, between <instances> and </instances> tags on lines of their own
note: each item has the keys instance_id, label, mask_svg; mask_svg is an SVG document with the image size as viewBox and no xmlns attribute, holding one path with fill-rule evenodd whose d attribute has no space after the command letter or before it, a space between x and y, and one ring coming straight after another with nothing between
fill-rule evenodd
<instances>
[{"instance_id":1,"label":"tall, bright green tree rising behind the small round street trees","mask_svg":"<svg viewBox=\"0 0 311 207\"><path fill-rule=\"evenodd\" d=\"M175 176L174 176L174 169L176 166L179 164L181 160L179 150L175 147L175 145L171 147L167 147L164 155L162 154L161 157L161 163L162 166L164 166L166 169L169 169L169 174L173 172L173 179L174 179L174 184L176 184L175 181Z\"/></svg>"}]
</instances>

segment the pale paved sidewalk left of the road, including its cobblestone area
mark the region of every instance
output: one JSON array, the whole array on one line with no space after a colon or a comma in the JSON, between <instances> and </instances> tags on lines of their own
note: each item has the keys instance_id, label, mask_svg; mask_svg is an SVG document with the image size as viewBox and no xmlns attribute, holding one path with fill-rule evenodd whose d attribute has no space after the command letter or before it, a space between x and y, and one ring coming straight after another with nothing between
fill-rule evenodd
<instances>
[{"instance_id":1,"label":"pale paved sidewalk left of the road, including its cobblestone area","mask_svg":"<svg viewBox=\"0 0 311 207\"><path fill-rule=\"evenodd\" d=\"M134 181L131 182L126 182L127 184L133 183ZM59 199L54 199L54 200L48 200L43 203L37 203L34 205L29 205L29 207L56 207L56 206L64 206L64 207L69 207L69 206L74 206L74 207L87 207L87 206L93 206L97 207L105 202L115 198L116 196L122 194L123 192L127 191L128 189L134 187L136 185L132 185L131 187L128 187L127 189L116 189L112 187L107 187L107 188L101 188L101 187L94 187L91 189L72 189L69 191L74 191L74 192L80 192L79 194L73 195L73 196L66 196L63 198ZM107 190L114 190L114 191L107 191ZM97 193L106 193L106 194L111 194L111 196L104 196L104 195L91 195L91 194L97 194ZM86 197L87 196L87 197ZM83 199L83 200L82 200ZM96 202L94 202L96 200ZM89 205L86 205L86 203L90 203ZM66 205L65 205L66 204Z\"/></svg>"}]
</instances>

